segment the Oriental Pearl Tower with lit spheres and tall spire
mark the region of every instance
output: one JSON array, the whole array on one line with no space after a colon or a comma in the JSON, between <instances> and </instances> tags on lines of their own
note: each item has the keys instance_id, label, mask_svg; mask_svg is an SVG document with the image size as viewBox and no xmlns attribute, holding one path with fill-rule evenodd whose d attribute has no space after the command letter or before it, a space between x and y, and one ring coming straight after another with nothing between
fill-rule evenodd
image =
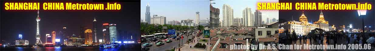
<instances>
[{"instance_id":1,"label":"Oriental Pearl Tower with lit spheres and tall spire","mask_svg":"<svg viewBox=\"0 0 375 51\"><path fill-rule=\"evenodd\" d=\"M42 45L42 41L40 41L40 34L39 34L39 21L40 21L40 17L39 17L39 10L38 10L38 17L36 17L36 35L35 35L36 43L35 45Z\"/></svg>"}]
</instances>

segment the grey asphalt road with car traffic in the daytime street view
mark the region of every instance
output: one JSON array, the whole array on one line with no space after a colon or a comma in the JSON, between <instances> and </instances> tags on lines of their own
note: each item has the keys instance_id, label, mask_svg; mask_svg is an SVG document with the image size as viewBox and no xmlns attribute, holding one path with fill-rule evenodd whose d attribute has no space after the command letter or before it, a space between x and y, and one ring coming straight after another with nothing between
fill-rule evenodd
<instances>
[{"instance_id":1,"label":"grey asphalt road with car traffic in the daytime street view","mask_svg":"<svg viewBox=\"0 0 375 51\"><path fill-rule=\"evenodd\" d=\"M178 44L180 43L181 44L181 40L183 40L183 43L186 43L187 41L187 36L186 35L183 35L183 39L180 39L180 40L175 40L175 39L172 39L172 38L169 38L172 40L171 43L166 43L165 40L160 40L160 41L163 41L164 45L161 45L161 46L156 46L156 43L153 43L152 46L150 47L147 47L147 48L150 48L149 51L165 51L165 50L171 50L173 47L178 47ZM192 35L189 35L189 38L192 38ZM150 42L151 43L151 42Z\"/></svg>"}]
</instances>

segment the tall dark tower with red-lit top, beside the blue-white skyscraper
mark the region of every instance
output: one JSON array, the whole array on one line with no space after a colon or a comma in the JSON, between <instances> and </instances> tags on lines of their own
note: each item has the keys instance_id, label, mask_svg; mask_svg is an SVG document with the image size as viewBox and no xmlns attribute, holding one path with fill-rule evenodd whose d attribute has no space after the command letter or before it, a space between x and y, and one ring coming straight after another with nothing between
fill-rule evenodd
<instances>
[{"instance_id":1,"label":"tall dark tower with red-lit top, beside the blue-white skyscraper","mask_svg":"<svg viewBox=\"0 0 375 51\"><path fill-rule=\"evenodd\" d=\"M108 22L105 22L103 23L103 42L105 44L109 44L110 43L110 27L109 27L110 23Z\"/></svg>"}]
</instances>

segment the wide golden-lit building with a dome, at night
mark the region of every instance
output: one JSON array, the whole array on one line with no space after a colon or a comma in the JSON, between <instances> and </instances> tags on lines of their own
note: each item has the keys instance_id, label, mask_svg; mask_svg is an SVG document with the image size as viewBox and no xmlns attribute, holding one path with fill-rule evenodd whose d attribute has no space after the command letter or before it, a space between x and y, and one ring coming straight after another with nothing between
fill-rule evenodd
<instances>
[{"instance_id":1,"label":"wide golden-lit building with a dome, at night","mask_svg":"<svg viewBox=\"0 0 375 51\"><path fill-rule=\"evenodd\" d=\"M290 33L293 33L293 31L295 31L297 35L306 35L311 30L319 28L318 24L308 23L308 19L303 12L299 20L300 21L287 21L284 23L280 23L279 25L280 27L285 28L285 30L289 30Z\"/></svg>"}]
</instances>

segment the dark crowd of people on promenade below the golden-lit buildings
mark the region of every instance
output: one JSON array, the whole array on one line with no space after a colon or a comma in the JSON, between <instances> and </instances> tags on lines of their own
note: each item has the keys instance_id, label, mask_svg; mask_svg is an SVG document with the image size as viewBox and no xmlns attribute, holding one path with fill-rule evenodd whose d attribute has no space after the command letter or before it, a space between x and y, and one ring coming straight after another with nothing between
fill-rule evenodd
<instances>
[{"instance_id":1,"label":"dark crowd of people on promenade below the golden-lit buildings","mask_svg":"<svg viewBox=\"0 0 375 51\"><path fill-rule=\"evenodd\" d=\"M306 42L307 39L310 39L309 41L311 44L338 44L339 40L346 39L347 44L371 44L371 46L375 46L375 38L374 33L369 33L368 35L363 35L362 33L359 34L314 34L314 35L301 35L300 39L303 40L303 42ZM302 41L301 40L301 41ZM324 40L326 40L324 42ZM314 42L313 42L314 41Z\"/></svg>"}]
</instances>

